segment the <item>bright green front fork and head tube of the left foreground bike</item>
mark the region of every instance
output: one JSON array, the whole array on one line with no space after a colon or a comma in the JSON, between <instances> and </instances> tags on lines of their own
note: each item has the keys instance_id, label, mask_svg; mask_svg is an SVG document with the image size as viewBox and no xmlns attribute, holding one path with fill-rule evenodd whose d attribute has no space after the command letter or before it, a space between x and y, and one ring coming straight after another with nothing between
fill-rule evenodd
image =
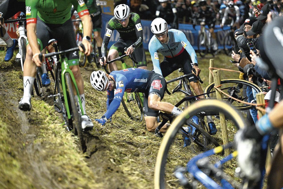
<instances>
[{"instance_id":1,"label":"bright green front fork and head tube of the left foreground bike","mask_svg":"<svg viewBox=\"0 0 283 189\"><path fill-rule=\"evenodd\" d=\"M79 93L79 89L78 89L78 86L77 86L77 83L76 83L76 80L75 80L75 77L72 73L72 70L69 68L69 65L66 61L67 58L64 58L63 61L61 61L61 68L62 68L62 72L61 72L61 81L62 81L62 89L63 89L63 95L64 97L67 97L67 89L66 89L66 82L65 82L65 73L69 73L70 76L71 76L71 79L72 79L72 82L76 88L76 92L77 92L77 95L80 96L80 93ZM67 115L68 115L68 119L71 118L71 113L70 113L70 109L69 109L69 104L68 104L68 99L67 98L64 98L65 100L65 105L66 105L66 111L67 111ZM82 101L80 98L78 98L79 100L79 104L80 104L80 109L81 109L81 113L82 115L83 114L83 107L82 107Z\"/></svg>"}]
</instances>

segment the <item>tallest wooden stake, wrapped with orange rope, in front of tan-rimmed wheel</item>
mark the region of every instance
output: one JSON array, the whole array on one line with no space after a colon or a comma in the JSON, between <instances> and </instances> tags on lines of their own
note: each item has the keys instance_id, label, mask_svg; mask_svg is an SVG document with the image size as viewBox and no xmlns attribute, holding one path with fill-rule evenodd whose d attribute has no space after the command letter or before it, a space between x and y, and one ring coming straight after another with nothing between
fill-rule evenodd
<instances>
[{"instance_id":1,"label":"tallest wooden stake, wrapped with orange rope, in front of tan-rimmed wheel","mask_svg":"<svg viewBox=\"0 0 283 189\"><path fill-rule=\"evenodd\" d=\"M214 75L215 86L220 86L220 70L217 69L217 70L213 70L212 72ZM221 89L221 87L219 87L219 89ZM220 93L218 90L215 90L215 92L216 92L217 100L222 101L222 93ZM220 116L223 144L227 145L229 141L228 141L228 133L227 133L225 115L222 112L219 112L219 116ZM229 148L226 148L224 152L225 152L225 156L228 156L230 154ZM232 164L231 160L229 160L228 163L231 165Z\"/></svg>"}]
</instances>

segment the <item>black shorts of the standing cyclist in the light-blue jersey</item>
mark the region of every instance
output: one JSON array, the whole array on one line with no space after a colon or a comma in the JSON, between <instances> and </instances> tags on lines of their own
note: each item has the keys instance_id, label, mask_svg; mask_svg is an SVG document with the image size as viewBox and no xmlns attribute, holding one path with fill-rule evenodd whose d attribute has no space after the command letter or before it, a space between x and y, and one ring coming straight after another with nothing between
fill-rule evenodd
<instances>
[{"instance_id":1,"label":"black shorts of the standing cyclist in the light-blue jersey","mask_svg":"<svg viewBox=\"0 0 283 189\"><path fill-rule=\"evenodd\" d=\"M160 63L163 77L167 77L179 68L183 68L184 74L192 73L192 60L186 50L173 58L164 57L163 62ZM198 78L194 75L189 78L189 82L192 81L197 82Z\"/></svg>"}]
</instances>

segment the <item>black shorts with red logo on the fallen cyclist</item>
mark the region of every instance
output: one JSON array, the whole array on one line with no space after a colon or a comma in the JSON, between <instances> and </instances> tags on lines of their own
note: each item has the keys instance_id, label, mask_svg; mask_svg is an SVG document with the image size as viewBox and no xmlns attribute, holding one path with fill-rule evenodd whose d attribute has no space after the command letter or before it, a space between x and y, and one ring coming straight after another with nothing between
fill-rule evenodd
<instances>
[{"instance_id":1,"label":"black shorts with red logo on the fallen cyclist","mask_svg":"<svg viewBox=\"0 0 283 189\"><path fill-rule=\"evenodd\" d=\"M151 77L149 84L150 85L148 87L148 91L143 94L143 115L157 117L159 111L150 109L148 107L147 98L149 95L156 94L162 100L164 97L165 90L167 88L167 83L164 77L162 77L158 73L154 73Z\"/></svg>"}]
</instances>

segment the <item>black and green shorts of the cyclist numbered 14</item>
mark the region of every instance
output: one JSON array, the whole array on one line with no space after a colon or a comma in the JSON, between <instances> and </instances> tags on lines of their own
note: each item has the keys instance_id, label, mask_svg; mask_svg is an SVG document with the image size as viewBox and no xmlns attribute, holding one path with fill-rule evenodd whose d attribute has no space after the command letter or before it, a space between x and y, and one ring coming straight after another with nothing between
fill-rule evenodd
<instances>
[{"instance_id":1,"label":"black and green shorts of the cyclist numbered 14","mask_svg":"<svg viewBox=\"0 0 283 189\"><path fill-rule=\"evenodd\" d=\"M134 44L135 41L123 41L122 39L119 39L116 43L114 43L109 50L111 49L115 49L119 52L119 56L122 56L125 54L125 47L129 47L132 44ZM132 56L134 57L134 59L138 62L138 64L136 65L137 68L141 67L141 66L146 66L146 57L145 57L145 51L143 50L143 44L141 44L139 47L137 47Z\"/></svg>"}]
</instances>

